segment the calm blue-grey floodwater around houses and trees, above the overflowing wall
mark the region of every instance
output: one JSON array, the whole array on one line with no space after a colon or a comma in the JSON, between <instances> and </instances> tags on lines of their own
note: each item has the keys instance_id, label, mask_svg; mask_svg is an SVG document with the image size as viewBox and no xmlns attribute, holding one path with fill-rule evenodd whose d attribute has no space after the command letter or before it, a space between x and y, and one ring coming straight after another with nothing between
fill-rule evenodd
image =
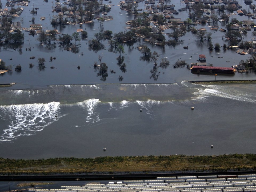
<instances>
[{"instance_id":1,"label":"calm blue-grey floodwater around houses and trees, above the overflowing wall","mask_svg":"<svg viewBox=\"0 0 256 192\"><path fill-rule=\"evenodd\" d=\"M34 2L34 1L33 1ZM62 1L61 1L62 2ZM108 4L104 1L103 3ZM178 10L183 5L179 1L171 2L175 5L175 9ZM151 73L150 69L153 67L153 62L143 61L142 53L137 49L139 42L134 43L131 46L123 44L125 53L122 54L124 58L124 63L126 63L126 72L123 73L119 66L117 65L118 53L109 52L109 45L107 41L104 41L105 49L95 53L94 51L89 51L88 41L94 38L94 34L100 31L111 30L114 33L120 31L125 31L127 25L125 22L134 19L134 15L127 13L124 10L120 10L118 1L113 1L112 9L108 15L113 16L113 20L103 22L103 26L100 27L100 22L94 19L93 23L83 24L81 27L79 25L65 25L62 27L55 27L62 34L72 34L76 29L83 29L87 31L88 38L86 40L81 40L79 45L79 52L77 54L72 53L71 51L66 51L63 48L56 45L55 49L48 50L45 48L45 45L40 45L37 41L38 35L34 37L29 35L29 32L22 31L25 35L24 44L22 46L22 54L18 53L18 49L1 49L1 58L6 62L6 65L12 65L13 68L20 64L22 66L22 72L17 73L13 71L12 73L5 73L0 76L2 83L16 82L17 85L13 86L12 89L26 89L26 88L40 88L47 85L72 85L72 84L97 84L101 83L100 77L97 77L97 71L95 72L93 64L98 62L98 56L101 55L102 61L105 62L108 66L109 72L108 77L104 83L119 83L118 76L123 76L122 83L173 83L181 82L183 80L213 80L214 75L194 75L190 71L184 69L174 69L172 65L178 60L185 60L189 65L190 63L197 62L198 55L204 54L206 56L206 62L208 64L213 64L213 66L222 66L222 67L231 67L231 65L237 65L239 61L246 60L250 57L247 55L239 55L235 53L237 50L220 50L219 53L213 51L209 52L207 41L203 42L202 45L197 41L195 35L191 32L187 32L183 37L180 38L183 42L179 43L177 46L156 46L154 44L149 44L141 39L141 45L147 45L151 52L156 51L159 54L158 63L160 63L162 58L167 58L170 61L170 66L167 69L160 69L159 76L157 80L150 78ZM138 3L139 8L144 9L144 2ZM20 17L15 18L14 21L20 21L23 18L22 27L29 27L31 23L29 20L32 18L30 10L32 9L32 2L29 3L28 7L24 7L23 13ZM243 5L245 6L245 4ZM51 12L51 2L34 2L34 7L39 7L37 10L37 15L34 15L35 23L42 24L43 30L54 29L50 24L50 19L53 17ZM248 9L249 6L247 6ZM185 20L188 17L188 10L180 12L178 15L174 15L175 18L181 18ZM235 12L234 12L235 13ZM55 13L56 14L56 13ZM46 17L46 20L40 21L41 17ZM94 15L94 17L97 15ZM248 19L247 16L231 15L231 19L235 17L239 21ZM250 18L249 18L250 19ZM221 23L218 22L220 28L225 28L221 26ZM210 30L209 26L199 25L195 26L198 29L205 27L207 32L212 33L212 42L228 44L228 42L223 41L222 37L225 36L225 33L220 31ZM167 29L165 33L171 33L173 30ZM252 38L252 31L248 31L247 35L242 34L243 41L250 41ZM170 39L165 35L166 41ZM74 43L74 42L73 42ZM183 49L183 46L188 46L188 49ZM31 51L26 51L26 48ZM81 55L83 53L83 56ZM35 59L29 59L34 56ZM45 58L45 70L38 70L37 59ZM56 57L56 60L50 62L50 57ZM219 58L218 58L219 57ZM10 60L12 59L12 60ZM226 61L229 61L227 63ZM32 63L34 67L29 68L29 63ZM80 66L81 69L78 70L77 66ZM50 67L55 67L50 69ZM115 71L116 73L111 74L110 70ZM221 79L254 79L255 73L249 74L235 74L234 76L219 75L218 80Z\"/></svg>"}]
</instances>

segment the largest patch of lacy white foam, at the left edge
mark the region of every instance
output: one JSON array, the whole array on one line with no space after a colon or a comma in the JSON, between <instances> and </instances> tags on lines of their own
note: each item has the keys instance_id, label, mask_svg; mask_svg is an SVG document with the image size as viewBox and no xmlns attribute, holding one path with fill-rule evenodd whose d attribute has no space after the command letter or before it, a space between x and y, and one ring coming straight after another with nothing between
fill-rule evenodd
<instances>
[{"instance_id":1,"label":"largest patch of lacy white foam, at the left edge","mask_svg":"<svg viewBox=\"0 0 256 192\"><path fill-rule=\"evenodd\" d=\"M44 127L60 118L59 105L58 102L50 102L0 106L5 118L11 119L8 129L4 129L4 133L0 135L0 141L11 141L18 136L33 135L36 131L42 131Z\"/></svg>"}]
</instances>

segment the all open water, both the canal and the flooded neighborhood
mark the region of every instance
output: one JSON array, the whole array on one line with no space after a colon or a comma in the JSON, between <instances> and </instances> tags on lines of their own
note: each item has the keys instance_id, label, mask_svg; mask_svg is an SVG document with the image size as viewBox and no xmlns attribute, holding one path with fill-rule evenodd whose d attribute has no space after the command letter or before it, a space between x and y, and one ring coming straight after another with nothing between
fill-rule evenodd
<instances>
[{"instance_id":1,"label":"all open water, both the canal and the flooded neighborhood","mask_svg":"<svg viewBox=\"0 0 256 192\"><path fill-rule=\"evenodd\" d=\"M48 50L45 45L39 45L37 35L29 37L25 31L22 54L18 50L1 50L6 65L20 64L22 71L0 76L1 83L17 83L0 89L0 156L31 159L255 153L256 85L194 85L187 80L214 80L215 76L192 74L185 68L172 67L177 59L189 64L196 62L199 54L205 54L207 63L214 66L230 67L250 55L222 49L220 53L210 53L207 42L200 45L196 37L187 32L181 37L183 42L175 48L163 49L141 40L141 45L157 51L160 59L166 57L170 61L167 69L159 68L156 80L150 73L153 62L141 59L142 54L137 49L139 42L131 46L124 44L127 71L123 73L117 65L118 53L109 52L107 42L105 50L97 53L89 51L87 45L94 33L124 31L125 22L134 18L121 11L118 2L112 1L108 15L114 19L105 21L102 28L97 20L82 25L88 32L88 39L81 40L77 54L62 50L58 45ZM171 3L177 10L182 7L179 1ZM34 15L35 22L41 23L45 30L53 29L49 24L53 15L51 2L34 1L34 7L39 7L38 14ZM143 7L144 2L139 3L139 8ZM15 21L23 17L22 26L29 27L31 9L32 2ZM174 17L185 20L187 14L188 11L183 11ZM46 17L45 21L39 20L42 16ZM248 19L232 15L230 20L233 17ZM227 44L222 40L224 33L211 31L207 25L197 27L205 27L212 33L213 44ZM56 29L71 35L79 25ZM244 41L251 38L251 31L243 36ZM167 35L166 39L169 39ZM29 47L31 51L26 51ZM101 81L93 68L99 55L109 69L106 81ZM32 56L34 60L29 59ZM50 62L51 56L56 60ZM46 59L45 70L38 70L39 57ZM29 63L34 64L32 69ZM55 68L50 69L51 66ZM116 73L111 74L110 70ZM123 76L122 82L118 80L119 75ZM218 74L217 80L221 79L255 79L255 73ZM191 106L195 109L191 110ZM210 145L214 147L211 149Z\"/></svg>"}]
</instances>

